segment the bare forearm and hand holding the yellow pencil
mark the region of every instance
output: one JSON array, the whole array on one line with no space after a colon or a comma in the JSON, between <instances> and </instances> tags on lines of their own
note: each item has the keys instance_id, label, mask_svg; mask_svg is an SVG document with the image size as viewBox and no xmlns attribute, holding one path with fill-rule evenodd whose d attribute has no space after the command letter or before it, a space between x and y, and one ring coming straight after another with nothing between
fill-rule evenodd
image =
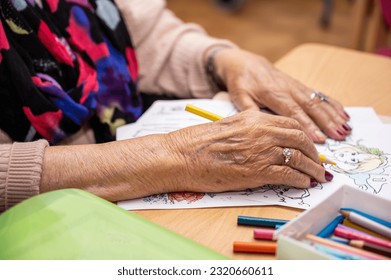
<instances>
[{"instance_id":1,"label":"bare forearm and hand holding the yellow pencil","mask_svg":"<svg viewBox=\"0 0 391 280\"><path fill-rule=\"evenodd\" d=\"M292 151L285 164L284 148ZM47 147L40 191L81 188L110 201L325 182L312 140L287 117L244 111L169 134Z\"/></svg>"}]
</instances>

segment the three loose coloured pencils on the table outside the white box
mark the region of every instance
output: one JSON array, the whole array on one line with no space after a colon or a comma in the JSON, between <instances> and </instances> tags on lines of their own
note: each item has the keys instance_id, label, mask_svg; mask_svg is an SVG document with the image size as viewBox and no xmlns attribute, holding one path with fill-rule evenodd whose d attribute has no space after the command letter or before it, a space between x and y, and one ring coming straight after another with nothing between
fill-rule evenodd
<instances>
[{"instance_id":1,"label":"three loose coloured pencils on the table outside the white box","mask_svg":"<svg viewBox=\"0 0 391 280\"><path fill-rule=\"evenodd\" d=\"M234 252L275 254L277 237L275 230L287 223L288 220L238 216L238 225L254 226L254 242L235 241Z\"/></svg>"}]
</instances>

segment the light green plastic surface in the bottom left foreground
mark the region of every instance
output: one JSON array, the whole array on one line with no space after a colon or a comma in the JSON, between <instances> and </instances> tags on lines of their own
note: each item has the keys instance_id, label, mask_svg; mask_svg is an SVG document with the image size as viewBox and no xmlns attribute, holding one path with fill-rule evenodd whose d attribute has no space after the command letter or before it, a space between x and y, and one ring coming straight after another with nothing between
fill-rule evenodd
<instances>
[{"instance_id":1,"label":"light green plastic surface in the bottom left foreground","mask_svg":"<svg viewBox=\"0 0 391 280\"><path fill-rule=\"evenodd\" d=\"M0 215L0 259L227 259L85 191L30 198Z\"/></svg>"}]
</instances>

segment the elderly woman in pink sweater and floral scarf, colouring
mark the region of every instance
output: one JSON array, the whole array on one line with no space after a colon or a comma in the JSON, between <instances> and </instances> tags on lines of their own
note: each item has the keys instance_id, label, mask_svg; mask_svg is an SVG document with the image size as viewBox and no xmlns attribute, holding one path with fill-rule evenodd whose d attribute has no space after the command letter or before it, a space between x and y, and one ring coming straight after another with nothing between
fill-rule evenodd
<instances>
[{"instance_id":1,"label":"elderly woman in pink sweater and floral scarf, colouring","mask_svg":"<svg viewBox=\"0 0 391 280\"><path fill-rule=\"evenodd\" d=\"M182 23L163 1L0 3L0 211L62 188L118 201L331 180L313 142L350 133L343 107ZM211 98L219 90L242 112L111 141L142 114L140 92Z\"/></svg>"}]
</instances>

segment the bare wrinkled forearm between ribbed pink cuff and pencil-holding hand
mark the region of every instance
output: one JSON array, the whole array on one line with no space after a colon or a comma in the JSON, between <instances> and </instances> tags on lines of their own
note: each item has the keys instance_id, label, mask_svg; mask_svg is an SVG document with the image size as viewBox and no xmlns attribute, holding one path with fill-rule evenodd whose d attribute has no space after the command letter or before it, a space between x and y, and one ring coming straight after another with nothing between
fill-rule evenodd
<instances>
[{"instance_id":1,"label":"bare wrinkled forearm between ribbed pink cuff and pencil-holding hand","mask_svg":"<svg viewBox=\"0 0 391 280\"><path fill-rule=\"evenodd\" d=\"M176 191L182 172L166 140L153 135L126 141L46 150L41 192L80 188L110 201Z\"/></svg>"}]
</instances>

